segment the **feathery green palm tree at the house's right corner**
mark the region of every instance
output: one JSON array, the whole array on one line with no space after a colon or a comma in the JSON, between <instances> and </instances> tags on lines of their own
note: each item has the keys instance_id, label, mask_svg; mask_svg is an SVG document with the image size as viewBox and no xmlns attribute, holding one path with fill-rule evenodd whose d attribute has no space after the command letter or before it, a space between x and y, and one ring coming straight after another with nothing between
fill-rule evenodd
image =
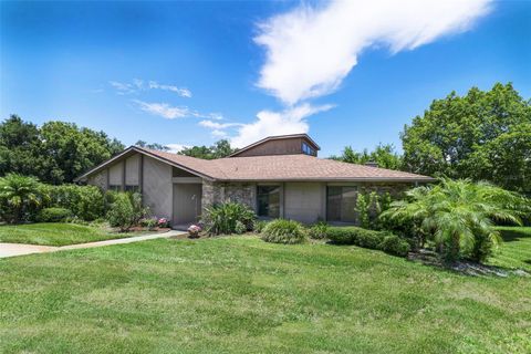
<instances>
[{"instance_id":1,"label":"feathery green palm tree at the house's right corner","mask_svg":"<svg viewBox=\"0 0 531 354\"><path fill-rule=\"evenodd\" d=\"M450 261L460 256L481 261L501 242L493 221L521 225L521 204L522 197L488 183L441 178L436 186L407 191L382 217L416 222Z\"/></svg>"}]
</instances>

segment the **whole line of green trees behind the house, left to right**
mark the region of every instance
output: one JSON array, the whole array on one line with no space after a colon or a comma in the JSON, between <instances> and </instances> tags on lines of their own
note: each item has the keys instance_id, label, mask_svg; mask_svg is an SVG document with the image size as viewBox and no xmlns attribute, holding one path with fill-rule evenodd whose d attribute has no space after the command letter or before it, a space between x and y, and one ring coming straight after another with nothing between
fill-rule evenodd
<instances>
[{"instance_id":1,"label":"whole line of green trees behind the house, left to right","mask_svg":"<svg viewBox=\"0 0 531 354\"><path fill-rule=\"evenodd\" d=\"M531 194L531 102L510 83L497 83L490 91L472 87L464 96L451 92L433 101L423 115L404 126L400 138L402 154L392 144L378 144L362 152L346 146L330 158L352 164L375 162L383 168L428 176L488 180ZM144 140L136 145L168 149ZM104 132L56 121L38 127L12 115L0 124L0 176L12 171L55 185L71 183L123 148ZM214 159L233 152L236 148L221 139L178 154Z\"/></svg>"}]
</instances>

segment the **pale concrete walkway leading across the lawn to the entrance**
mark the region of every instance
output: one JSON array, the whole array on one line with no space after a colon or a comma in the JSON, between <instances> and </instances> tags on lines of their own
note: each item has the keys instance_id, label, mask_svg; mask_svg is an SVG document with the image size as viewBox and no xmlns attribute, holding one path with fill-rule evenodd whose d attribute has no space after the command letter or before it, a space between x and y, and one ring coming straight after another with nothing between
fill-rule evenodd
<instances>
[{"instance_id":1,"label":"pale concrete walkway leading across the lawn to the entrance","mask_svg":"<svg viewBox=\"0 0 531 354\"><path fill-rule=\"evenodd\" d=\"M69 246L62 246L62 247L0 242L0 258L32 254L32 253L55 252L55 251L63 251L63 250L76 250L76 249L83 249L83 248L103 247L103 246L111 246L111 244L123 244L123 243L132 243L132 242L164 239L164 238L179 237L179 236L184 237L186 233L188 232L170 230L164 233L143 235L143 236L135 236L135 237L128 237L123 239L69 244Z\"/></svg>"}]
</instances>

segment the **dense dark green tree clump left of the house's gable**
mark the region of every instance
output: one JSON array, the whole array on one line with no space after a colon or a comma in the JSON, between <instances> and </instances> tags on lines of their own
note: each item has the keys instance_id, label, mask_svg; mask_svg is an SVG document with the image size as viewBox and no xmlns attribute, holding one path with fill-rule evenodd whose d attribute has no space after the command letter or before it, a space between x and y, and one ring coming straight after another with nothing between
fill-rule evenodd
<instances>
[{"instance_id":1,"label":"dense dark green tree clump left of the house's gable","mask_svg":"<svg viewBox=\"0 0 531 354\"><path fill-rule=\"evenodd\" d=\"M38 127L12 115L0 124L0 176L18 173L51 184L70 183L123 148L103 132L64 122Z\"/></svg>"}]
</instances>

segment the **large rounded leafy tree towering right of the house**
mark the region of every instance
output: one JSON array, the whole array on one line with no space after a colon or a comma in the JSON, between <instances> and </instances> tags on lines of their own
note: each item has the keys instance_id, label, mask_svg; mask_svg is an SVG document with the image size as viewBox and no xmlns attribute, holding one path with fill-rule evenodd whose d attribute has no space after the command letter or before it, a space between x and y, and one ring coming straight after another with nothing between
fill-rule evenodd
<instances>
[{"instance_id":1,"label":"large rounded leafy tree towering right of the house","mask_svg":"<svg viewBox=\"0 0 531 354\"><path fill-rule=\"evenodd\" d=\"M424 175L490 180L531 192L531 104L511 84L436 100L402 134L404 164Z\"/></svg>"}]
</instances>

